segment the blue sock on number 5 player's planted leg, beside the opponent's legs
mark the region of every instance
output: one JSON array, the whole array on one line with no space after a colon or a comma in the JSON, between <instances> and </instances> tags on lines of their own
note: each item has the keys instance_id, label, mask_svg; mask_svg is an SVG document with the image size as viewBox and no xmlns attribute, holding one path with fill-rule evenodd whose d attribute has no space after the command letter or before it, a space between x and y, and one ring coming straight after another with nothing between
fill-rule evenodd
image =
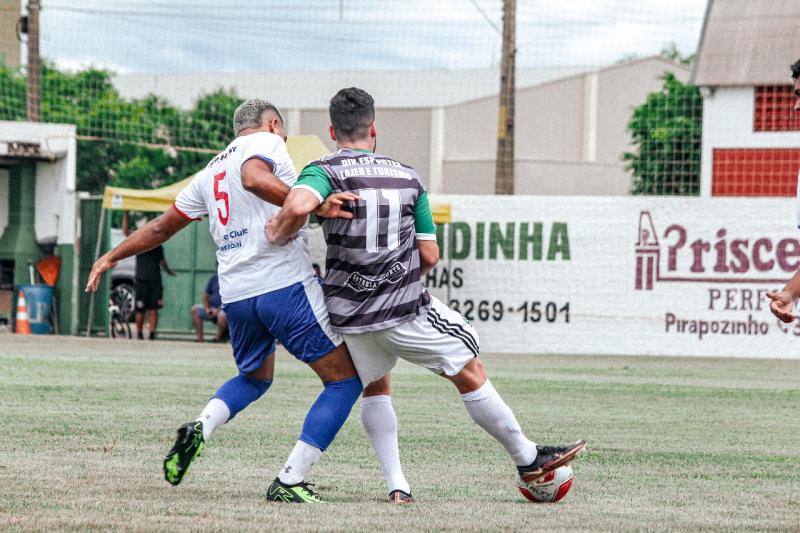
<instances>
[{"instance_id":1,"label":"blue sock on number 5 player's planted leg, beside the opponent's legs","mask_svg":"<svg viewBox=\"0 0 800 533\"><path fill-rule=\"evenodd\" d=\"M361 390L358 376L325 383L325 389L308 410L300 440L324 451L344 425Z\"/></svg>"}]
</instances>

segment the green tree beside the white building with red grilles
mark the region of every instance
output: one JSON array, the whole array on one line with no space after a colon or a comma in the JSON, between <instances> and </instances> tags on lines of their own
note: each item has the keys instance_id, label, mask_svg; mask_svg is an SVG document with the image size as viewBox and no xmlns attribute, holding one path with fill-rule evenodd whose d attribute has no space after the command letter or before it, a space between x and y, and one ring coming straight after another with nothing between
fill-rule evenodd
<instances>
[{"instance_id":1,"label":"green tree beside the white building with red grilles","mask_svg":"<svg viewBox=\"0 0 800 533\"><path fill-rule=\"evenodd\" d=\"M633 174L632 194L700 192L703 99L699 89L671 72L661 90L636 107L628 123L633 152L623 154Z\"/></svg>"}]
</instances>

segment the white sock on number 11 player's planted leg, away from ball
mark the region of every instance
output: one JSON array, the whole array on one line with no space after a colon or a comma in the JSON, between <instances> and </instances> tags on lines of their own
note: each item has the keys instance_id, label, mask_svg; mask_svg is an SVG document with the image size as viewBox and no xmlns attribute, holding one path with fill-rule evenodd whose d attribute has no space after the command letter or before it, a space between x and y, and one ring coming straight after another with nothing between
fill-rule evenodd
<instances>
[{"instance_id":1,"label":"white sock on number 11 player's planted leg, away from ball","mask_svg":"<svg viewBox=\"0 0 800 533\"><path fill-rule=\"evenodd\" d=\"M383 469L383 477L391 494L395 490L411 493L403 467L400 465L400 449L397 446L397 415L392 407L392 397L386 395L367 396L361 399L361 423L367 431L372 448Z\"/></svg>"}]
</instances>

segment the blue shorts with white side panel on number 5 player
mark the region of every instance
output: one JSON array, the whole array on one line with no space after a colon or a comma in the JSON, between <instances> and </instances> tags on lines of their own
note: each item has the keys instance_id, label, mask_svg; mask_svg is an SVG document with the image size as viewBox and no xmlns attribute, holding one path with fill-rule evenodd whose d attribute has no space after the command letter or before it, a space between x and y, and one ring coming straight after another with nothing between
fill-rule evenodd
<instances>
[{"instance_id":1,"label":"blue shorts with white side panel on number 5 player","mask_svg":"<svg viewBox=\"0 0 800 533\"><path fill-rule=\"evenodd\" d=\"M313 363L342 343L331 331L322 287L315 278L223 304L240 372L257 370L277 339L298 360Z\"/></svg>"}]
</instances>

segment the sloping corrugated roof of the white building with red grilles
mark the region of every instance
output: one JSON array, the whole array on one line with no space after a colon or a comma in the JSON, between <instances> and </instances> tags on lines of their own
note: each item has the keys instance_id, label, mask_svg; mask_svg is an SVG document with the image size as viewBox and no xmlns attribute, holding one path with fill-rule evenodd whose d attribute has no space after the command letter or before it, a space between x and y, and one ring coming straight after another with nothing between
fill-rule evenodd
<instances>
[{"instance_id":1,"label":"sloping corrugated roof of the white building with red grilles","mask_svg":"<svg viewBox=\"0 0 800 533\"><path fill-rule=\"evenodd\" d=\"M800 0L709 0L693 82L790 83L800 58Z\"/></svg>"}]
</instances>

